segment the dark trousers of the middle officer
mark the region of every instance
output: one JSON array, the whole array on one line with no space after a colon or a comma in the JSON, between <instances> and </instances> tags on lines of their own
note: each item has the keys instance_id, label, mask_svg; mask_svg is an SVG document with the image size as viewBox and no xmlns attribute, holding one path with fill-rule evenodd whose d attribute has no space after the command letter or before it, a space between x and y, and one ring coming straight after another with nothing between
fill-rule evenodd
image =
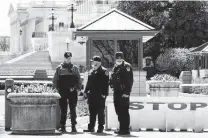
<instances>
[{"instance_id":1,"label":"dark trousers of the middle officer","mask_svg":"<svg viewBox=\"0 0 208 138\"><path fill-rule=\"evenodd\" d=\"M104 129L105 124L105 98L102 97L90 97L88 99L90 123L88 129L94 129L96 123L96 117L98 115L98 129Z\"/></svg>"}]
</instances>

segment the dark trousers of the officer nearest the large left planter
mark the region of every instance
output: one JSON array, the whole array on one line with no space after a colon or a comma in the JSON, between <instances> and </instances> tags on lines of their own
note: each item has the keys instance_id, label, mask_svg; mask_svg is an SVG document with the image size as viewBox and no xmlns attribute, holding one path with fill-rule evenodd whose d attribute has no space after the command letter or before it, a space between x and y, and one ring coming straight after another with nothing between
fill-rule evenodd
<instances>
[{"instance_id":1,"label":"dark trousers of the officer nearest the large left planter","mask_svg":"<svg viewBox=\"0 0 208 138\"><path fill-rule=\"evenodd\" d=\"M61 99L59 100L59 106L61 109L61 126L66 125L67 119L67 107L69 104L70 115L71 115L71 125L75 126L76 122L76 106L77 106L77 91L70 92L69 90L62 90L60 92Z\"/></svg>"}]
</instances>

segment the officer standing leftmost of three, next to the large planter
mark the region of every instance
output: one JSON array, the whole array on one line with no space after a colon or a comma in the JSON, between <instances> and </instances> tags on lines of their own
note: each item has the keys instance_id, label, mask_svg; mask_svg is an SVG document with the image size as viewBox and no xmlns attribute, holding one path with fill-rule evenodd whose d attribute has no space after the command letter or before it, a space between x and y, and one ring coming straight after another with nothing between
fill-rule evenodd
<instances>
[{"instance_id":1,"label":"officer standing leftmost of three, next to the large planter","mask_svg":"<svg viewBox=\"0 0 208 138\"><path fill-rule=\"evenodd\" d=\"M77 91L81 88L80 73L77 66L71 63L72 53L64 53L64 62L57 68L53 78L54 87L61 95L59 106L61 109L61 128L59 131L66 132L65 124L67 119L67 105L69 104L72 132L76 130L76 105L77 105ZM67 103L68 102L68 103Z\"/></svg>"}]
</instances>

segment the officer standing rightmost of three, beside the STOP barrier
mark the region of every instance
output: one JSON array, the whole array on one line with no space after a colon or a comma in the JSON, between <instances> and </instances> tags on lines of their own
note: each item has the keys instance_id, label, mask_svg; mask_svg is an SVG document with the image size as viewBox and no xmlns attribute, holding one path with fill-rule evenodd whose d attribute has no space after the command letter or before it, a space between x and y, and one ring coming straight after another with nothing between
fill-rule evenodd
<instances>
[{"instance_id":1,"label":"officer standing rightmost of three, beside the STOP barrier","mask_svg":"<svg viewBox=\"0 0 208 138\"><path fill-rule=\"evenodd\" d=\"M129 96L133 85L133 71L129 63L124 61L122 52L116 53L116 64L110 78L110 87L113 88L114 106L120 123L116 134L130 134Z\"/></svg>"}]
</instances>

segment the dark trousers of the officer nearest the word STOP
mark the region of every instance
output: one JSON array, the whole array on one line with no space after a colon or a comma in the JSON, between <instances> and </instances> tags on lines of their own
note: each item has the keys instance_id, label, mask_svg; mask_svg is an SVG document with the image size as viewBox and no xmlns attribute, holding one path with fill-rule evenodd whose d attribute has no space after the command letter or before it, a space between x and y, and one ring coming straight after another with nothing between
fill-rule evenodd
<instances>
[{"instance_id":1,"label":"dark trousers of the officer nearest the word STOP","mask_svg":"<svg viewBox=\"0 0 208 138\"><path fill-rule=\"evenodd\" d=\"M129 97L124 98L121 94L114 94L114 107L118 116L121 131L128 131L130 126Z\"/></svg>"}]
</instances>

